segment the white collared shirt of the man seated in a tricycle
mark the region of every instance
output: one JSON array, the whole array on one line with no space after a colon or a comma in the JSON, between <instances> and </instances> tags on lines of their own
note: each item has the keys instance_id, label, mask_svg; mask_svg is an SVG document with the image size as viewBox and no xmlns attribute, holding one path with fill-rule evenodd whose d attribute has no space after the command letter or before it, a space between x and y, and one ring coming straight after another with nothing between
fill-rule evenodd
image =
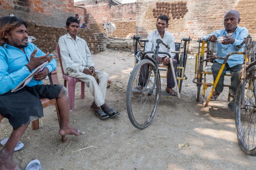
<instances>
[{"instance_id":1,"label":"white collared shirt of the man seated in a tricycle","mask_svg":"<svg viewBox=\"0 0 256 170\"><path fill-rule=\"evenodd\" d=\"M156 40L157 39L161 39L163 40L164 44L168 45L170 47L170 49L166 48L163 44L159 44L159 52L168 52L170 53L170 51L175 51L175 38L173 36L172 33L169 33L167 31L164 31L164 37L161 38L158 30L154 30L152 31L148 36L147 36L147 40L149 40L149 42L146 42L145 45L145 52L147 51L154 51L154 49L156 48ZM152 56L153 54L148 54L149 56ZM175 53L170 53L171 58L174 58ZM165 57L165 54L159 54L160 57Z\"/></svg>"}]
</instances>

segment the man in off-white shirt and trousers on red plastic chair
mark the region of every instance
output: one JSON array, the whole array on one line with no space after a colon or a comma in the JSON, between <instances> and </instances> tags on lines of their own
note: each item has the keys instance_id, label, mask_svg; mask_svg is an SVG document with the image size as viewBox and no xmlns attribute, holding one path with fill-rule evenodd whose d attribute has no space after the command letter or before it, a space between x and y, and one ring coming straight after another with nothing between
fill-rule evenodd
<instances>
[{"instance_id":1,"label":"man in off-white shirt and trousers on red plastic chair","mask_svg":"<svg viewBox=\"0 0 256 170\"><path fill-rule=\"evenodd\" d=\"M63 69L66 75L78 78L90 88L94 101L90 110L100 119L113 118L120 113L105 103L107 80L109 75L95 70L92 55L85 40L76 36L79 31L79 22L75 17L69 17L66 22L67 34L61 36L58 44ZM96 76L97 75L97 76ZM97 81L95 79L97 77Z\"/></svg>"}]
</instances>

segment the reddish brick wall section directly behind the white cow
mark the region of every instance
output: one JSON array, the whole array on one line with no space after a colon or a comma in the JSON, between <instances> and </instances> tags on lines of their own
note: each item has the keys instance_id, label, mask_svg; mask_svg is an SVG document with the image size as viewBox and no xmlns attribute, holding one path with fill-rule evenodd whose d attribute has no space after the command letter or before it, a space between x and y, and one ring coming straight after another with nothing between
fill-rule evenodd
<instances>
[{"instance_id":1,"label":"reddish brick wall section directly behind the white cow","mask_svg":"<svg viewBox=\"0 0 256 170\"><path fill-rule=\"evenodd\" d=\"M125 38L135 34L135 9L136 3L111 5L106 0L80 1L76 5L84 5L86 9L85 21L90 29L96 32L106 33L103 29L103 21L111 21L117 30L115 37Z\"/></svg>"}]
</instances>

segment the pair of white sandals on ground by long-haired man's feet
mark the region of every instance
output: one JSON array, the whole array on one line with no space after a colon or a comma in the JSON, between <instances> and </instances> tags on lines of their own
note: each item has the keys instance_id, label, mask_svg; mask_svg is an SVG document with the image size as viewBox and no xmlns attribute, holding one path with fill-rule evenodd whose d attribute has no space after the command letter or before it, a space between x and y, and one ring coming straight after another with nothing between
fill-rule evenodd
<instances>
[{"instance_id":1,"label":"pair of white sandals on ground by long-haired man's feet","mask_svg":"<svg viewBox=\"0 0 256 170\"><path fill-rule=\"evenodd\" d=\"M0 144L5 146L7 141L8 141L8 137L1 140ZM24 147L24 144L22 142L18 142L16 147L14 148L14 151L19 151ZM31 162L28 163L28 165L26 166L25 170L42 170L42 166L40 164L40 161L35 159L32 160Z\"/></svg>"}]
</instances>

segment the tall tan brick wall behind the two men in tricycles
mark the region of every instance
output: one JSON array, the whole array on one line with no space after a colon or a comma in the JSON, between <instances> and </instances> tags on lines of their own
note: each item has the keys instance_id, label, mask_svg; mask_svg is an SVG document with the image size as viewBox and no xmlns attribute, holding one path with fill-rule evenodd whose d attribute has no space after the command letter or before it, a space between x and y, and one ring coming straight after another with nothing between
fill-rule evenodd
<instances>
[{"instance_id":1,"label":"tall tan brick wall behind the two men in tricycles","mask_svg":"<svg viewBox=\"0 0 256 170\"><path fill-rule=\"evenodd\" d=\"M256 18L255 0L137 0L136 2L136 35L146 37L150 32L156 29L156 18L154 18L153 9L156 9L157 2L186 4L188 11L184 17L173 19L169 14L169 27L167 31L174 34L176 41L181 38L191 36L193 38L193 47L197 45L198 38L212 33L214 30L223 29L223 18L227 11L238 10L241 14L239 26L246 27L252 34L253 40L256 40ZM171 7L171 6L170 6ZM181 12L182 13L182 12Z\"/></svg>"}]
</instances>

